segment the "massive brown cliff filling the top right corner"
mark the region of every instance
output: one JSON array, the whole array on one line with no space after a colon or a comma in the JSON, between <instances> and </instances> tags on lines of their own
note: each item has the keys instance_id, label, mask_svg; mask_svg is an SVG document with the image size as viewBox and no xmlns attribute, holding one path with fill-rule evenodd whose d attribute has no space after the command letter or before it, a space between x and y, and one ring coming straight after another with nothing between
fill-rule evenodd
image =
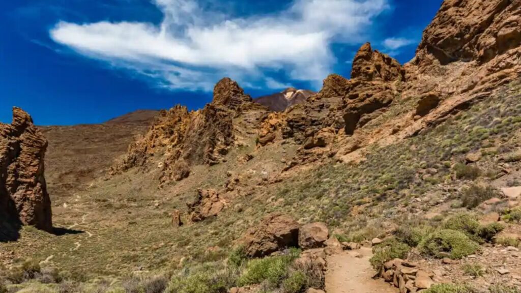
<instances>
[{"instance_id":1,"label":"massive brown cliff filling the top right corner","mask_svg":"<svg viewBox=\"0 0 521 293\"><path fill-rule=\"evenodd\" d=\"M513 0L445 0L424 32L418 55L430 54L441 65L488 62L521 45L520 9Z\"/></svg>"}]
</instances>

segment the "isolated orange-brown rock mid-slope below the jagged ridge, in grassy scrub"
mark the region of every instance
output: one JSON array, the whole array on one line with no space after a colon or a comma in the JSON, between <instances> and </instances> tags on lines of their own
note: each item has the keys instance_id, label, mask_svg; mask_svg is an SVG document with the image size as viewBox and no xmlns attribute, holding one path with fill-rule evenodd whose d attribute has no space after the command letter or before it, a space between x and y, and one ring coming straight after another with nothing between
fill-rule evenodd
<instances>
[{"instance_id":1,"label":"isolated orange-brown rock mid-slope below the jagged ridge, in grassy scrub","mask_svg":"<svg viewBox=\"0 0 521 293\"><path fill-rule=\"evenodd\" d=\"M189 219L195 223L217 216L226 205L227 202L219 196L217 190L199 189L195 201L187 203Z\"/></svg>"}]
</instances>

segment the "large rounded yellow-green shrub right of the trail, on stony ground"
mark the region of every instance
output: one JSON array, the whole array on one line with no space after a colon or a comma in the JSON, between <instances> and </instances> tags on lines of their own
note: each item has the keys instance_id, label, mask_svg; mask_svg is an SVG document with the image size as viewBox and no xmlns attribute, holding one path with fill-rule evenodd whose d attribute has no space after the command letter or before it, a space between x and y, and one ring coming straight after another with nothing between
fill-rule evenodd
<instances>
[{"instance_id":1,"label":"large rounded yellow-green shrub right of the trail, on stony ground","mask_svg":"<svg viewBox=\"0 0 521 293\"><path fill-rule=\"evenodd\" d=\"M452 259L461 259L480 249L478 243L470 240L463 232L451 229L437 230L429 234L418 247L423 254L438 258L448 254Z\"/></svg>"}]
</instances>

